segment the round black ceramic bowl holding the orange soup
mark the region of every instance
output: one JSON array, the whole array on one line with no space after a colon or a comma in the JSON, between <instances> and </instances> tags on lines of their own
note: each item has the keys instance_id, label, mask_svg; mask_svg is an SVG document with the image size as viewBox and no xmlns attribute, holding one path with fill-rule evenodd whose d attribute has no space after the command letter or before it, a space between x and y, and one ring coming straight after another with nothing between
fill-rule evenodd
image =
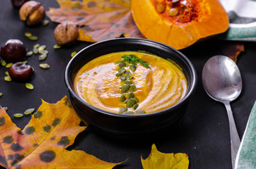
<instances>
[{"instance_id":1,"label":"round black ceramic bowl holding the orange soup","mask_svg":"<svg viewBox=\"0 0 256 169\"><path fill-rule=\"evenodd\" d=\"M93 58L117 51L147 51L162 58L171 58L180 65L187 77L188 87L185 96L177 104L163 111L141 115L111 113L87 104L74 90L73 82L76 73ZM196 88L197 74L190 60L168 45L149 39L117 38L92 44L79 51L66 67L65 82L71 104L86 125L107 134L139 135L156 132L182 118Z\"/></svg>"}]
</instances>

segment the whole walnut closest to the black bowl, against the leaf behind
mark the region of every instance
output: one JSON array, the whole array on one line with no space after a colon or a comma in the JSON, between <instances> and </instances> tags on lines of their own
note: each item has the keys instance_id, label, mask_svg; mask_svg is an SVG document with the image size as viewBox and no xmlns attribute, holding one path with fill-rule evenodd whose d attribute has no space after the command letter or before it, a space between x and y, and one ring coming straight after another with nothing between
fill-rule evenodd
<instances>
[{"instance_id":1,"label":"whole walnut closest to the black bowl, against the leaf behind","mask_svg":"<svg viewBox=\"0 0 256 169\"><path fill-rule=\"evenodd\" d=\"M54 30L54 37L58 45L70 45L78 37L78 28L73 23L60 23Z\"/></svg>"}]
</instances>

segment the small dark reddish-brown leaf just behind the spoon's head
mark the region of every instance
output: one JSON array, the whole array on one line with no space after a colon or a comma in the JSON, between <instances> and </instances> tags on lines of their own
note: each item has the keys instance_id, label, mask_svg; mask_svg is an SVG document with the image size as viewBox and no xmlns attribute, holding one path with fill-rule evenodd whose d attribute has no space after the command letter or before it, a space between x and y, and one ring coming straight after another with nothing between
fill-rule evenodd
<instances>
[{"instance_id":1,"label":"small dark reddish-brown leaf just behind the spoon's head","mask_svg":"<svg viewBox=\"0 0 256 169\"><path fill-rule=\"evenodd\" d=\"M235 63L238 59L238 55L242 51L245 51L245 47L241 42L223 42L220 44L220 47L221 51L223 51L226 56L232 58Z\"/></svg>"}]
</instances>

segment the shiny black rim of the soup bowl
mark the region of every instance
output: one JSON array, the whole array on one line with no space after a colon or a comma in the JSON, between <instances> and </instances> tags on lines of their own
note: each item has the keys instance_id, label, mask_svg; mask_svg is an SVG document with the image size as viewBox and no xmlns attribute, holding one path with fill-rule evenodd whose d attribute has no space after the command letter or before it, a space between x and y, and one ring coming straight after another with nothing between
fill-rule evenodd
<instances>
[{"instance_id":1,"label":"shiny black rim of the soup bowl","mask_svg":"<svg viewBox=\"0 0 256 169\"><path fill-rule=\"evenodd\" d=\"M179 56L182 57L182 61L185 62L188 67L190 68L189 71L192 74L191 76L191 82L190 82L190 89L187 89L187 92L185 93L185 96L183 96L176 104L174 104L173 106L170 106L168 108L165 108L161 111L156 111L156 112L152 112L152 113L145 113L145 114L136 114L136 115L132 115L132 114L120 114L120 113L113 113L110 111L105 111L103 109L97 108L95 106L92 106L91 104L86 103L86 101L84 101L83 99L81 99L80 96L78 96L78 94L74 91L74 89L71 87L70 82L71 77L69 77L69 72L71 71L71 63L74 62L76 60L76 58L78 58L78 56L83 53L83 51L85 51L86 49L90 49L93 48L95 46L97 46L98 44L105 44L105 43L111 43L111 42L115 42L115 41L123 41L123 40L130 40L130 41L141 41L141 42L147 42L147 43L153 43L153 44L158 44L161 46L164 46L165 48L170 48L173 51L175 51ZM99 57L99 56L98 56ZM161 56L159 56L161 57ZM141 39L141 38L136 38L136 37L119 37L119 38L115 38L115 39L107 39L104 41L100 41L100 42L96 42L94 44L90 44L86 47L84 47L83 49L81 49L80 51L78 51L78 53L71 58L71 60L69 61L69 63L66 65L66 69L65 69L65 73L64 73L64 81L66 84L66 87L69 91L69 94L71 94L80 104L82 104L83 106L87 106L91 109L93 109L93 111L97 111L99 113L103 113L104 115L110 115L110 116L115 116L116 118L142 118L142 117L151 117L151 116L158 116L158 115L163 115L163 113L169 113L171 110L175 110L176 108L179 108L180 106L182 106L182 103L187 102L188 99L190 98L190 96L192 96L192 94L194 94L195 89L197 87L197 73L196 73L196 69L194 68L194 65L192 64L192 62L190 61L189 58L187 58L187 56L185 56L184 54L182 54L180 51L178 51L177 49L174 49L171 46L168 46L167 44L163 44L161 42L156 42L150 39Z\"/></svg>"}]
</instances>

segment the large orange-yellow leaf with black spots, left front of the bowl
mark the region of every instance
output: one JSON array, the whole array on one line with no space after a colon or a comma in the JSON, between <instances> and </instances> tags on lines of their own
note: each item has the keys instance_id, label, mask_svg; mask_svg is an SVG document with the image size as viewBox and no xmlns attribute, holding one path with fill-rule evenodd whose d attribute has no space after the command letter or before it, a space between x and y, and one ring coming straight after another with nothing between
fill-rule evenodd
<instances>
[{"instance_id":1,"label":"large orange-yellow leaf with black spots, left front of the bowl","mask_svg":"<svg viewBox=\"0 0 256 169\"><path fill-rule=\"evenodd\" d=\"M0 165L4 168L113 168L84 151L67 151L79 132L81 120L65 96L57 104L42 101L23 130L0 106ZM81 163L83 161L83 163Z\"/></svg>"}]
</instances>

